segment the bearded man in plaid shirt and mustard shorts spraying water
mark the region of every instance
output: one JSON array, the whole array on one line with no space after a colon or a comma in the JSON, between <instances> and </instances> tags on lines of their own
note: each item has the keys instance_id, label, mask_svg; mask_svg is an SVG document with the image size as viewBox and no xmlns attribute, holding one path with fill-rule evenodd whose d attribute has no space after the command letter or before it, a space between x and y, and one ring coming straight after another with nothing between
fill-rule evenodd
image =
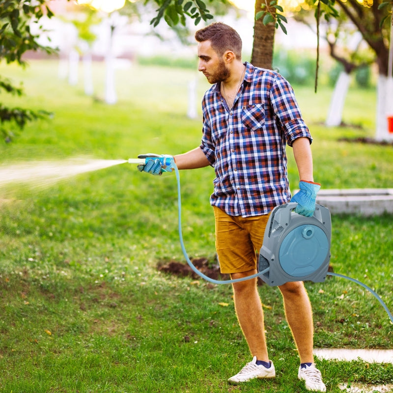
<instances>
[{"instance_id":1,"label":"bearded man in plaid shirt and mustard shorts spraying water","mask_svg":"<svg viewBox=\"0 0 393 393\"><path fill-rule=\"evenodd\" d=\"M271 210L298 202L296 213L311 216L320 184L313 181L312 141L293 90L276 72L242 62L239 34L223 23L213 23L195 34L198 70L212 87L202 101L203 135L200 146L174 157L178 169L215 168L210 200L216 220L216 249L222 273L238 279L256 273L256 253L262 246ZM285 145L292 146L299 171L300 191L291 199ZM152 174L171 171L159 160L139 169ZM313 323L303 282L280 286L285 316L300 363L298 378L311 391L325 392L321 373L313 363ZM233 283L240 327L253 360L229 378L230 383L273 378L263 310L256 279Z\"/></svg>"}]
</instances>

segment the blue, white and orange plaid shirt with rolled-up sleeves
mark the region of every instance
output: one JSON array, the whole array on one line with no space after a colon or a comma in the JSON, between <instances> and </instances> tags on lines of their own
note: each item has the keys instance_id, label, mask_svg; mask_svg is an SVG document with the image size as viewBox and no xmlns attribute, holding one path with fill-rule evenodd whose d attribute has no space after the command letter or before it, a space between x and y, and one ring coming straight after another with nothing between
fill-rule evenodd
<instances>
[{"instance_id":1,"label":"blue, white and orange plaid shirt with rolled-up sleeves","mask_svg":"<svg viewBox=\"0 0 393 393\"><path fill-rule=\"evenodd\" d=\"M211 204L242 217L267 214L290 200L286 143L312 141L291 85L274 71L245 65L231 110L219 83L206 91L200 144L216 172Z\"/></svg>"}]
</instances>

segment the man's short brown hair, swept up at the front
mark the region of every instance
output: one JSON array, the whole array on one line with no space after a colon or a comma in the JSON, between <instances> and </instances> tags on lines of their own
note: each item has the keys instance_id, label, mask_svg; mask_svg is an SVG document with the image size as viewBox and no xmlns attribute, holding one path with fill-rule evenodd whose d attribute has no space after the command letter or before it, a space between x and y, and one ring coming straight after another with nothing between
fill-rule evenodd
<instances>
[{"instance_id":1,"label":"man's short brown hair, swept up at the front","mask_svg":"<svg viewBox=\"0 0 393 393\"><path fill-rule=\"evenodd\" d=\"M226 51L232 51L237 59L242 58L242 39L234 28L222 22L214 22L195 33L198 42L210 41L218 56Z\"/></svg>"}]
</instances>

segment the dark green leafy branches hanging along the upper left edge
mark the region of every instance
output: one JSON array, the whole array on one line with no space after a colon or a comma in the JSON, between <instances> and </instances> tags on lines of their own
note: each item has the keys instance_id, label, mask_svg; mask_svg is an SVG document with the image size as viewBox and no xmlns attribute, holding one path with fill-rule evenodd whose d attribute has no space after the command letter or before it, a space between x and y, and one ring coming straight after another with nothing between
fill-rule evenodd
<instances>
[{"instance_id":1,"label":"dark green leafy branches hanging along the upper left edge","mask_svg":"<svg viewBox=\"0 0 393 393\"><path fill-rule=\"evenodd\" d=\"M45 4L45 0L0 0L0 60L7 64L17 62L21 66L26 63L22 56L26 51L38 49L53 53L53 49L42 46L37 39L42 32L39 21L42 17L53 16L52 11ZM31 25L37 27L37 32L32 32ZM0 76L0 91L8 94L22 95L23 89L15 87L8 79ZM23 129L30 120L48 115L47 111L32 111L25 108L10 108L0 103L0 134L6 141L12 140L14 132L11 126L16 125Z\"/></svg>"}]
</instances>

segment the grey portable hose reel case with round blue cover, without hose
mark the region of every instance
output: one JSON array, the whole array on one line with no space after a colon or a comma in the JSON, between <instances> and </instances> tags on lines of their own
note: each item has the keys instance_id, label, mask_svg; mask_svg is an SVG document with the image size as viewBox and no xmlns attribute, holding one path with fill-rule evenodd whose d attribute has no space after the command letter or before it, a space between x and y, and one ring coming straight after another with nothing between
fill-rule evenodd
<instances>
[{"instance_id":1,"label":"grey portable hose reel case with round blue cover, without hose","mask_svg":"<svg viewBox=\"0 0 393 393\"><path fill-rule=\"evenodd\" d=\"M323 282L329 268L332 223L316 204L312 217L294 212L297 203L276 206L266 225L258 272L270 286L289 281Z\"/></svg>"}]
</instances>

